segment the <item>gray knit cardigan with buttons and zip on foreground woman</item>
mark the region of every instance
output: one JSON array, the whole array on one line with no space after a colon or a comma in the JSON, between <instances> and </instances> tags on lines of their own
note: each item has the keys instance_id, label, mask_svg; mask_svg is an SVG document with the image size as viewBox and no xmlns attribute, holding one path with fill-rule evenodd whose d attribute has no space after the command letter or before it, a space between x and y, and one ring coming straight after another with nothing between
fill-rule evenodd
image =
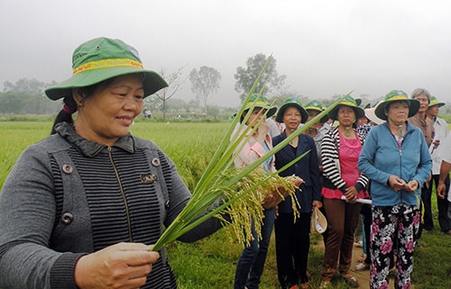
<instances>
[{"instance_id":1,"label":"gray knit cardigan with buttons and zip on foreground woman","mask_svg":"<svg viewBox=\"0 0 451 289\"><path fill-rule=\"evenodd\" d=\"M0 288L77 288L78 258L117 242L152 244L190 198L155 144L128 135L106 147L61 123L25 149L0 194ZM180 238L221 227L215 218ZM164 250L142 288L176 288Z\"/></svg>"}]
</instances>

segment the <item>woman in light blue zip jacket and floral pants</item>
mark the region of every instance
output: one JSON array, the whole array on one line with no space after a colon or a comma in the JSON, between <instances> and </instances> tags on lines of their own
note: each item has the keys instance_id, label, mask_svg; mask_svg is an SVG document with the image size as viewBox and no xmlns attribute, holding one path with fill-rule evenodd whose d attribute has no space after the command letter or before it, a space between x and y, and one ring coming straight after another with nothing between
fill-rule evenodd
<instances>
[{"instance_id":1,"label":"woman in light blue zip jacket and floral pants","mask_svg":"<svg viewBox=\"0 0 451 289\"><path fill-rule=\"evenodd\" d=\"M421 130L407 122L418 110L419 101L403 91L385 95L375 114L387 122L370 131L358 162L358 168L372 179L370 286L374 289L388 288L394 249L398 252L395 288L410 288L420 188L432 166Z\"/></svg>"}]
</instances>

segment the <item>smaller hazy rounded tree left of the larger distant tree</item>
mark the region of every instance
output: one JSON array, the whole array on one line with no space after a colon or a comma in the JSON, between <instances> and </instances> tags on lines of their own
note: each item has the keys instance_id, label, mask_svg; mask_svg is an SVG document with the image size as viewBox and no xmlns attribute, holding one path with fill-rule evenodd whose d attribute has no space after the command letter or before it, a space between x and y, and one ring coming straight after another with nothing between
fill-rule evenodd
<instances>
[{"instance_id":1,"label":"smaller hazy rounded tree left of the larger distant tree","mask_svg":"<svg viewBox=\"0 0 451 289\"><path fill-rule=\"evenodd\" d=\"M208 97L217 91L221 83L221 74L215 68L201 67L193 68L189 72L191 91L196 95L196 99L204 104L207 113Z\"/></svg>"}]
</instances>

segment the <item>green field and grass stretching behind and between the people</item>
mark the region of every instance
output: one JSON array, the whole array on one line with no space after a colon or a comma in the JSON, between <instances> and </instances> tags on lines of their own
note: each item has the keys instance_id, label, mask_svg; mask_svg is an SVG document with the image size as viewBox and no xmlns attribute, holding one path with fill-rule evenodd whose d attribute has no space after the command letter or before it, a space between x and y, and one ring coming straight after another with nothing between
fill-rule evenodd
<instances>
[{"instance_id":1,"label":"green field and grass stretching behind and between the people","mask_svg":"<svg viewBox=\"0 0 451 289\"><path fill-rule=\"evenodd\" d=\"M213 156L228 125L226 122L137 122L132 131L136 136L158 144L176 163L180 175L192 188L207 166L208 159ZM0 122L0 131L3 136L0 139L1 186L23 149L49 135L51 122ZM437 219L437 201L433 195L433 213ZM312 274L313 288L318 288L321 275L323 251L315 246L320 242L319 235L311 236L308 271ZM424 232L420 242L426 247L415 250L412 279L416 288L451 288L451 238L439 231L435 220L435 230ZM196 243L172 243L168 248L168 258L180 289L231 288L235 264L242 248L226 228ZM334 280L333 284L335 288L347 288L340 279ZM260 288L279 287L272 237Z\"/></svg>"}]
</instances>

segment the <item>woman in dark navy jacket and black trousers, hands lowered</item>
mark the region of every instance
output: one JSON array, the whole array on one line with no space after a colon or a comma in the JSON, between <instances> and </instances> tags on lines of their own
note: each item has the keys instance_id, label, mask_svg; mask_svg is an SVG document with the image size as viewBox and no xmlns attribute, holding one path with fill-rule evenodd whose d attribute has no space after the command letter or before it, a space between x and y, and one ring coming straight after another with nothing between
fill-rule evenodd
<instances>
[{"instance_id":1,"label":"woman in dark navy jacket and black trousers, hands lowered","mask_svg":"<svg viewBox=\"0 0 451 289\"><path fill-rule=\"evenodd\" d=\"M277 113L276 122L283 122L285 130L274 138L274 146L285 140L300 123L308 119L307 111L298 100L288 99ZM310 217L313 207L320 208L318 154L315 141L306 134L291 140L290 144L275 154L277 169L308 152L297 163L281 172L281 176L296 175L303 179L300 190L296 191L299 200L300 217L294 220L291 197L279 204L279 215L274 223L276 237L277 271L281 288L309 288L307 276Z\"/></svg>"}]
</instances>

